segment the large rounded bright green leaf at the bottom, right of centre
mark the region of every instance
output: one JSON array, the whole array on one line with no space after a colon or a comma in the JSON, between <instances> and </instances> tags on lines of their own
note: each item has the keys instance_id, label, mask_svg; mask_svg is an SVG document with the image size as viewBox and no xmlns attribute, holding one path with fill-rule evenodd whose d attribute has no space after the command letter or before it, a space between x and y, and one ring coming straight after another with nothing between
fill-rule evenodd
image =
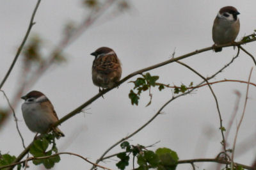
<instances>
[{"instance_id":1,"label":"large rounded bright green leaf at the bottom, right of centre","mask_svg":"<svg viewBox=\"0 0 256 170\"><path fill-rule=\"evenodd\" d=\"M176 168L179 157L175 151L168 148L158 148L156 154L160 159L161 166L168 167L169 169Z\"/></svg>"}]
</instances>

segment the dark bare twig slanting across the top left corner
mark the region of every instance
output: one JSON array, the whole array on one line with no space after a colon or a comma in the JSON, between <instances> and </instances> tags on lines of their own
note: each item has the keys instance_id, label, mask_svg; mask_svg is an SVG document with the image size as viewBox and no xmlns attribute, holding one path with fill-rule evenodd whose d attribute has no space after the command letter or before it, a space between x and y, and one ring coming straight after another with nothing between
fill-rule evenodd
<instances>
[{"instance_id":1,"label":"dark bare twig slanting across the top left corner","mask_svg":"<svg viewBox=\"0 0 256 170\"><path fill-rule=\"evenodd\" d=\"M32 13L32 16L31 16L31 20L30 20L30 22L29 22L29 26L28 26L28 30L27 30L27 32L26 32L26 35L24 36L24 38L23 38L23 40L22 40L22 43L20 44L20 47L19 47L19 49L17 50L17 53L16 53L16 55L15 55L15 58L14 58L13 61L12 61L12 65L10 66L8 72L7 72L6 75L4 76L3 81L2 81L1 84L0 84L0 89L3 87L4 82L8 79L10 73L12 72L13 66L15 65L17 59L19 58L20 52L21 52L21 50L23 49L23 47L24 47L24 45L25 45L25 43L26 43L26 40L28 39L29 33L30 33L30 31L31 31L31 28L32 28L33 25L35 24L35 22L34 22L34 17L35 17L36 10L38 9L38 6L39 6L40 2L41 2L41 0L38 0L37 3L36 3L35 9L34 9L34 11L33 11L33 13Z\"/></svg>"}]
</instances>

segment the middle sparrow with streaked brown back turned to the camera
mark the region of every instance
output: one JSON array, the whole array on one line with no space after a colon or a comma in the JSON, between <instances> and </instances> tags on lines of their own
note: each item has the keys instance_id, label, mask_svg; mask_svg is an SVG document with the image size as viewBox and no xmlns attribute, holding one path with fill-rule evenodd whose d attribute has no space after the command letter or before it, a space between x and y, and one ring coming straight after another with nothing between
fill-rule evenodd
<instances>
[{"instance_id":1,"label":"middle sparrow with streaked brown back turned to the camera","mask_svg":"<svg viewBox=\"0 0 256 170\"><path fill-rule=\"evenodd\" d=\"M92 65L93 84L102 89L112 88L115 86L122 75L122 67L116 53L108 47L100 47L92 52L95 56Z\"/></svg>"}]
</instances>

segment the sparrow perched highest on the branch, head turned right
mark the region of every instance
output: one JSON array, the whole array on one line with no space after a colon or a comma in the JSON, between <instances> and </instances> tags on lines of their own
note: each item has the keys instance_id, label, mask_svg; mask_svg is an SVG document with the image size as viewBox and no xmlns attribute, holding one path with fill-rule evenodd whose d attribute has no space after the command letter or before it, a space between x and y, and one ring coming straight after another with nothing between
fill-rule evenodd
<instances>
[{"instance_id":1,"label":"sparrow perched highest on the branch, head turned right","mask_svg":"<svg viewBox=\"0 0 256 170\"><path fill-rule=\"evenodd\" d=\"M212 40L215 45L232 43L239 33L240 22L237 15L240 13L233 6L225 6L220 9L212 26ZM220 52L221 47L214 47L215 52Z\"/></svg>"}]
</instances>

